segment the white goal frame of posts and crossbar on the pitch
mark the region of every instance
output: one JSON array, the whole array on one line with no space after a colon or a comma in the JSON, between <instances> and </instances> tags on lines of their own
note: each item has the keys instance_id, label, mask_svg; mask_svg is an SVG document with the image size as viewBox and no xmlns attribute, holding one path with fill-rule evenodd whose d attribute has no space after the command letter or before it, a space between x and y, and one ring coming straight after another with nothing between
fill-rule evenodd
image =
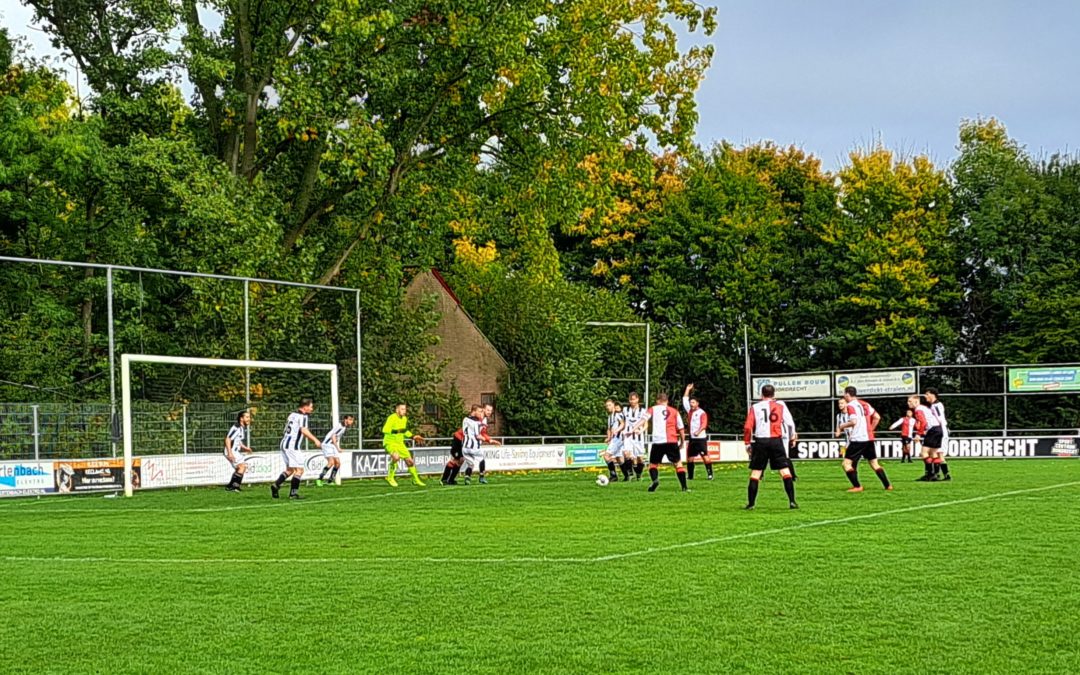
<instances>
[{"instance_id":1,"label":"white goal frame of posts and crossbar on the pitch","mask_svg":"<svg viewBox=\"0 0 1080 675\"><path fill-rule=\"evenodd\" d=\"M135 436L140 429L136 429L134 423L135 419L135 401L133 392L135 391L135 386L133 384L132 370L133 366L139 367L147 364L157 364L159 366L172 367L179 369L178 372L185 373L184 377L171 376L171 377L157 377L154 378L154 383L159 389L165 389L170 391L171 396L176 396L176 391L180 389L180 384L174 383L183 380L184 386L189 386L188 380L191 379L192 372L199 372L201 368L214 368L214 369L233 369L237 373L243 373L243 377L239 378L240 388L239 392L233 388L235 393L237 403L231 407L237 408L238 406L243 408L251 403L251 382L249 374L253 370L265 373L265 372L276 372L279 379L284 379L288 381L291 379L297 378L302 374L319 374L326 373L329 374L329 389L325 391L329 397L330 407L330 419L340 419L340 410L338 409L338 368L337 365L333 363L297 363L287 361L248 361L243 359L202 359L194 356L165 356L159 354L122 354L120 356L120 386L122 395L122 409L123 409L123 447L124 447L124 496L131 497L134 491L134 465L135 465ZM284 376L284 377L283 377ZM235 375L231 379L237 379ZM171 384L168 387L163 386L161 382ZM247 383L244 383L247 381ZM296 393L307 393L303 388L300 387L283 387L289 392L289 401L296 397ZM203 391L205 391L205 387ZM139 386L140 396L146 397L146 391L149 390L151 394L154 392L154 387L148 387L145 383ZM295 401L293 401L295 403ZM187 417L185 417L187 419ZM216 424L217 429L214 432L215 446L213 450L220 453L222 445L219 443L224 442L225 433L228 430L227 417L222 417L219 424ZM276 426L275 426L276 427ZM188 443L188 431L184 430L183 443ZM145 446L146 441L139 441L140 447ZM174 449L175 451L175 449ZM203 449L202 451L207 451Z\"/></svg>"}]
</instances>

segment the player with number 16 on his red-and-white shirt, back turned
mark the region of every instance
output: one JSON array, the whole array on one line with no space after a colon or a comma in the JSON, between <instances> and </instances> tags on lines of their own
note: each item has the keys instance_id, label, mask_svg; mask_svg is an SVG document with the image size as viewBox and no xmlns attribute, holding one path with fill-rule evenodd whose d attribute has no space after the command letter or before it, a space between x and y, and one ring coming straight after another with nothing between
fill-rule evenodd
<instances>
[{"instance_id":1,"label":"player with number 16 on his red-and-white shirt, back turned","mask_svg":"<svg viewBox=\"0 0 1080 675\"><path fill-rule=\"evenodd\" d=\"M777 390L772 384L761 388L761 400L746 411L743 424L743 442L750 455L750 483L746 485L746 511L753 511L757 502L757 489L766 468L780 472L787 492L787 508L798 509L795 501L795 477L792 475L792 460L787 448L798 441L795 420L783 401L777 401Z\"/></svg>"}]
</instances>

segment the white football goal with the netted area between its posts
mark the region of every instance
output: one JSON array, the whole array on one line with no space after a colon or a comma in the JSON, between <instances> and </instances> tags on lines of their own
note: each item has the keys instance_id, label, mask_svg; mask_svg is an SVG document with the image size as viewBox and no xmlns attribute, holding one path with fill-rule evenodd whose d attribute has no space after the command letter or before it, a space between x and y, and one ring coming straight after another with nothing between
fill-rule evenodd
<instances>
[{"instance_id":1,"label":"white football goal with the netted area between its posts","mask_svg":"<svg viewBox=\"0 0 1080 675\"><path fill-rule=\"evenodd\" d=\"M123 354L120 370L127 497L144 487L224 485L225 437L244 410L255 481L280 473L282 430L300 400L314 402L309 429L320 440L340 419L335 364Z\"/></svg>"}]
</instances>

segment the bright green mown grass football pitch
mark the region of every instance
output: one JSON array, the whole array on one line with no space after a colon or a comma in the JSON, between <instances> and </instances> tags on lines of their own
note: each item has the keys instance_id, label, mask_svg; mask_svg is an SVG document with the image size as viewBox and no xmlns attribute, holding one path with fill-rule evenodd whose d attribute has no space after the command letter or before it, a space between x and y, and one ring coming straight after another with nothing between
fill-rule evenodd
<instances>
[{"instance_id":1,"label":"bright green mown grass football pitch","mask_svg":"<svg viewBox=\"0 0 1080 675\"><path fill-rule=\"evenodd\" d=\"M4 672L1080 672L1080 461L0 502Z\"/></svg>"}]
</instances>

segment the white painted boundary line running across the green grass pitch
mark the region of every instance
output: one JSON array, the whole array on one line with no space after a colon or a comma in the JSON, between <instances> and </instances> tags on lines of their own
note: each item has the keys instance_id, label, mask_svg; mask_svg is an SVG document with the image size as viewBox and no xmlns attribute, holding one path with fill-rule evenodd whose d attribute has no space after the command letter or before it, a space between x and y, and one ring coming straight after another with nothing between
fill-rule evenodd
<instances>
[{"instance_id":1,"label":"white painted boundary line running across the green grass pitch","mask_svg":"<svg viewBox=\"0 0 1080 675\"><path fill-rule=\"evenodd\" d=\"M742 532L738 535L728 535L726 537L714 537L712 539L702 539L701 541L688 541L685 543L676 543L667 546L652 546L649 549L643 549L640 551L630 551L626 553L613 553L610 555L598 555L594 557L544 557L544 556L526 556L526 557L320 557L320 558L147 558L147 557L64 557L64 556L18 556L18 555L4 555L0 556L0 561L4 563L85 563L85 564L111 564L111 565L123 565L123 564L136 564L136 565L252 565L252 564L266 564L266 565L303 565L303 564L341 564L341 563L353 563L353 564L391 564L391 563L449 563L449 564L477 564L477 563L488 563L497 565L528 565L528 564L543 564L543 563L554 563L554 564L569 564L569 565L591 565L596 563L608 563L611 561L621 561L631 557L639 557L643 555L651 555L653 553L665 553L669 551L678 551L681 549L692 549L699 546L708 546L712 544L724 543L728 541L738 541L740 539L753 539L756 537L768 537L769 535L780 535L783 532L793 532L800 529L808 529L811 527L824 527L827 525L843 525L846 523L856 523L859 521L868 521L873 518L880 518L887 515L896 515L900 513L912 513L915 511L926 511L928 509L944 509L946 507L956 507L960 504L971 504L981 501L987 501L990 499L1001 499L1004 497L1013 497L1015 495L1029 495L1032 492L1042 492L1045 490L1056 490L1063 487L1074 487L1080 485L1080 481L1074 481L1071 483L1058 483L1056 485L1044 485L1042 487L1029 487L1020 490L1009 490L1008 492L996 492L994 495L983 495L981 497L969 497L968 499L954 499L951 501L940 501L931 504L918 504L915 507L904 507L903 509L890 509L888 511L877 511L875 513L863 513L859 515L851 515L842 518L829 518L826 521L813 521L811 523L801 523L798 525L788 525L785 527L773 527L771 529L756 530L752 532ZM379 495L366 495L360 496L355 499L363 498L376 498L384 497L390 495L420 495L424 494L421 491L410 491L410 492L382 492ZM339 501L342 499L350 499L347 497L337 498ZM329 500L323 500L329 501ZM319 502L313 502L319 503ZM272 507L273 504L268 504ZM238 507L232 507L233 509ZM109 513L105 511L103 513Z\"/></svg>"}]
</instances>

